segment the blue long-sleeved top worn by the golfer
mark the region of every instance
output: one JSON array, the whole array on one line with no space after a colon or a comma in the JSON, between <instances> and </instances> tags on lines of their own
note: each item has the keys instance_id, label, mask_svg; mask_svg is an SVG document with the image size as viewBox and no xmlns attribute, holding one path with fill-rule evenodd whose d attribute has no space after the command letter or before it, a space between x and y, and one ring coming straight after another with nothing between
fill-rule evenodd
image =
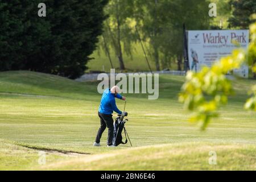
<instances>
[{"instance_id":1,"label":"blue long-sleeved top worn by the golfer","mask_svg":"<svg viewBox=\"0 0 256 182\"><path fill-rule=\"evenodd\" d=\"M122 96L120 94L117 94L115 96L115 94L110 92L110 89L104 90L98 111L102 114L112 114L113 111L115 111L115 113L122 114L122 111L120 111L115 104L115 97L122 99Z\"/></svg>"}]
</instances>

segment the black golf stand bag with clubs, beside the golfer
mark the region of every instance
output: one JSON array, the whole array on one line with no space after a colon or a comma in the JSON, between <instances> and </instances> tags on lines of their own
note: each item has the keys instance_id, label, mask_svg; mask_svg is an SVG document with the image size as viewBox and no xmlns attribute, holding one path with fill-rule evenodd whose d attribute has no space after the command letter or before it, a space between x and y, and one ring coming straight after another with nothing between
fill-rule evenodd
<instances>
[{"instance_id":1,"label":"black golf stand bag with clubs, beside the golfer","mask_svg":"<svg viewBox=\"0 0 256 182\"><path fill-rule=\"evenodd\" d=\"M123 121L123 117L118 114L118 117L115 118L114 122L114 137L113 137L113 145L118 146L119 144L126 144L128 142L127 138L129 139L129 142L131 144L130 138L127 134L127 131L125 129L125 123L128 121L128 119L125 119ZM122 137L122 131L125 131L125 142L123 142L123 137ZM132 145L131 145L132 146Z\"/></svg>"}]
</instances>

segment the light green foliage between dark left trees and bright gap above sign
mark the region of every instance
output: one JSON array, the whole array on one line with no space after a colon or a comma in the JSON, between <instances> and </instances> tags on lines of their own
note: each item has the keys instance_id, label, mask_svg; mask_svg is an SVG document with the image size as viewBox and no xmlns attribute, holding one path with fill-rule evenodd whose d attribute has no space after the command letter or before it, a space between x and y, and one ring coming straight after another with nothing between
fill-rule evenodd
<instances>
[{"instance_id":1,"label":"light green foliage between dark left trees and bright gap above sign","mask_svg":"<svg viewBox=\"0 0 256 182\"><path fill-rule=\"evenodd\" d=\"M188 30L209 28L208 5L207 0L113 0L105 9L109 18L105 21L104 36L121 62L122 53L132 56L138 51L134 46L139 43L137 25L146 52L154 60L152 69L170 68L177 58L181 64L183 23ZM103 39L101 47L105 49Z\"/></svg>"}]
</instances>

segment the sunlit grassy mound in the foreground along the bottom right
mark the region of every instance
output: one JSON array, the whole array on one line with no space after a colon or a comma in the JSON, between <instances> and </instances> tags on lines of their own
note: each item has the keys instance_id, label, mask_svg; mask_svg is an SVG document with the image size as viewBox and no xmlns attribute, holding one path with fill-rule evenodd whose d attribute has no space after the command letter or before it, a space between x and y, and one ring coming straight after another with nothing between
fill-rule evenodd
<instances>
[{"instance_id":1,"label":"sunlit grassy mound in the foreground along the bottom right","mask_svg":"<svg viewBox=\"0 0 256 182\"><path fill-rule=\"evenodd\" d=\"M179 143L138 147L107 154L63 160L39 169L73 170L251 170L255 146L249 144ZM209 165L209 151L217 165ZM121 155L122 154L122 155Z\"/></svg>"}]
</instances>

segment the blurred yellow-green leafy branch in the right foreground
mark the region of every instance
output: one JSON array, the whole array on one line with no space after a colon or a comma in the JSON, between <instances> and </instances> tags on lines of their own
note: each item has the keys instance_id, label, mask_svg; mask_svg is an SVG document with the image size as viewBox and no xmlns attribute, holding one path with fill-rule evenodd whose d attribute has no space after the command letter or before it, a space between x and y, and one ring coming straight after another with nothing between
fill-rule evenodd
<instances>
[{"instance_id":1,"label":"blurred yellow-green leafy branch in the right foreground","mask_svg":"<svg viewBox=\"0 0 256 182\"><path fill-rule=\"evenodd\" d=\"M203 67L200 72L189 71L186 81L181 88L179 101L185 109L193 111L191 122L202 122L201 129L205 130L210 119L218 117L217 110L228 102L228 96L234 93L232 83L226 74L233 69L240 68L243 63L253 63L256 58L256 23L251 24L251 43L249 50L235 49L230 56L222 57L211 68ZM256 65L251 64L256 71ZM253 94L245 104L245 109L256 111L256 85L251 92Z\"/></svg>"}]
</instances>

